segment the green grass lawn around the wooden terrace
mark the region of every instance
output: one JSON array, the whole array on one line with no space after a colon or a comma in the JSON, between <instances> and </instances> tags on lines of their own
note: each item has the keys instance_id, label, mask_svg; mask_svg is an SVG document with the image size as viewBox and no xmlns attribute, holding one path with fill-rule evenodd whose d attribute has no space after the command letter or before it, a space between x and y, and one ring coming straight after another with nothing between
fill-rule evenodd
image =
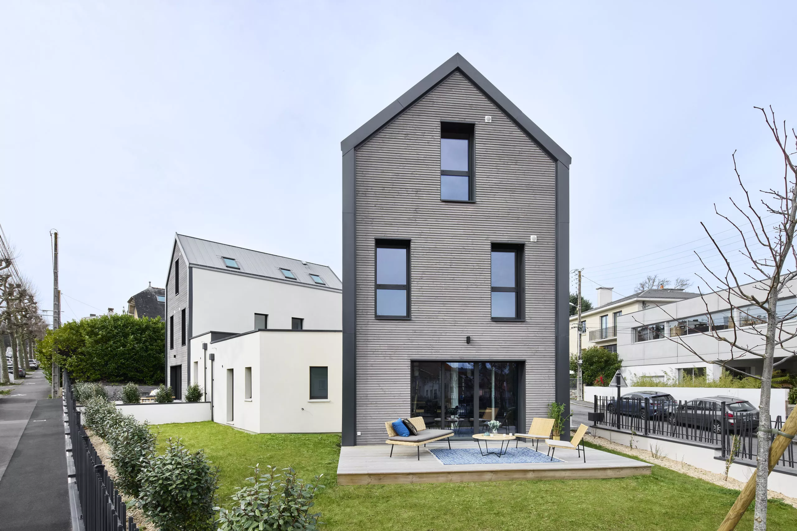
<instances>
[{"instance_id":1,"label":"green grass lawn around the wooden terrace","mask_svg":"<svg viewBox=\"0 0 797 531\"><path fill-rule=\"evenodd\" d=\"M620 479L337 486L339 435L250 435L212 422L155 429L161 444L173 436L205 449L221 467L225 503L255 463L292 465L305 479L323 472L325 529L713 530L738 494L662 467ZM751 513L737 529L752 529ZM770 502L768 513L769 529L797 529L797 509Z\"/></svg>"}]
</instances>

